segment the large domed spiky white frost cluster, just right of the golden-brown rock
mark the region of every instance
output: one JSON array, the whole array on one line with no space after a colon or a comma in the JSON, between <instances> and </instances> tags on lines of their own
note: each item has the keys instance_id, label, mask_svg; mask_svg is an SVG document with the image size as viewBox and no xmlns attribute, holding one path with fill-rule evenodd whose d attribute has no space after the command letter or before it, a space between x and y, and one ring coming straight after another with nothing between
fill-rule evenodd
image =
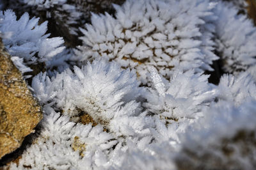
<instances>
[{"instance_id":1,"label":"large domed spiky white frost cluster, just right of the golden-brown rock","mask_svg":"<svg viewBox=\"0 0 256 170\"><path fill-rule=\"evenodd\" d=\"M57 73L51 79L40 73L32 82L41 104L51 106L65 115L77 116L83 112L93 121L116 135L148 134L145 121L150 118L141 112L136 73L104 60ZM145 128L145 129L144 129Z\"/></svg>"}]
</instances>

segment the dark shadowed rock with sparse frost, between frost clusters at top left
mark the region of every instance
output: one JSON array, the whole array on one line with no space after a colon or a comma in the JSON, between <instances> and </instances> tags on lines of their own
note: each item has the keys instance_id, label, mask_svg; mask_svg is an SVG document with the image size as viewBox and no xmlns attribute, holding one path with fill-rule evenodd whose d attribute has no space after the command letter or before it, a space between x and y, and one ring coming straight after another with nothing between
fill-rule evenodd
<instances>
[{"instance_id":1,"label":"dark shadowed rock with sparse frost, between frost clusters at top left","mask_svg":"<svg viewBox=\"0 0 256 170\"><path fill-rule=\"evenodd\" d=\"M81 36L81 31L77 28L90 23L92 13L108 12L110 15L113 15L115 9L112 4L123 4L124 2L125 0L70 0L67 4L74 6L76 8L75 11L81 13L81 16L77 17L77 13L74 15L72 12L68 12L68 10L63 10L62 6L57 5L45 12L41 12L40 18L49 20L49 29L52 35L63 37L67 47L76 47L81 45L81 40L78 38ZM47 18L47 13L49 12L51 13L51 18ZM70 30L76 30L78 34L74 35Z\"/></svg>"}]
</instances>

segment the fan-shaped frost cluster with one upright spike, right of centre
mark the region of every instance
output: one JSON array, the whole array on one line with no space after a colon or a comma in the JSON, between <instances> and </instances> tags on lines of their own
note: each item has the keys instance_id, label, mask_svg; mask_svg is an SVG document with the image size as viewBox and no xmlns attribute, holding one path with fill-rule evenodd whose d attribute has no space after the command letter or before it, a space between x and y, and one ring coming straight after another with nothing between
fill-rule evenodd
<instances>
[{"instance_id":1,"label":"fan-shaped frost cluster with one upright spike, right of centre","mask_svg":"<svg viewBox=\"0 0 256 170\"><path fill-rule=\"evenodd\" d=\"M148 88L145 93L147 102L143 106L156 118L157 140L171 137L179 142L177 134L204 116L202 108L216 96L216 89L207 82L208 77L189 70L173 73L169 82L152 69L153 88Z\"/></svg>"}]
</instances>

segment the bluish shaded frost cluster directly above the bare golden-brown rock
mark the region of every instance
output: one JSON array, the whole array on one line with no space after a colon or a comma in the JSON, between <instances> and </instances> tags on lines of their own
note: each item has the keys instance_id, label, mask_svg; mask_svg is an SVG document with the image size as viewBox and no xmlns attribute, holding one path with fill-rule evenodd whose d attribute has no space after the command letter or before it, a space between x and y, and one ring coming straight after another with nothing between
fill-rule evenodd
<instances>
[{"instance_id":1,"label":"bluish shaded frost cluster directly above the bare golden-brown rock","mask_svg":"<svg viewBox=\"0 0 256 170\"><path fill-rule=\"evenodd\" d=\"M8 38L3 38L3 43L13 57L15 65L26 72L28 65L44 63L49 61L56 54L60 53L65 47L61 47L63 39L61 37L48 38L47 22L38 25L38 18L29 19L28 13L24 13L17 20L12 10L6 10L0 13L0 31L1 33L10 33Z\"/></svg>"}]
</instances>

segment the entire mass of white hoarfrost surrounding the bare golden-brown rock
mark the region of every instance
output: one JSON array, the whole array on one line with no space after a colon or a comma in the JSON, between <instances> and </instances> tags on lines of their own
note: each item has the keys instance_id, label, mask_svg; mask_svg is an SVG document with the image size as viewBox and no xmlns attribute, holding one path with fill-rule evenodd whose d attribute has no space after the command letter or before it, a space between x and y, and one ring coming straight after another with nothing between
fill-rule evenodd
<instances>
[{"instance_id":1,"label":"entire mass of white hoarfrost surrounding the bare golden-brown rock","mask_svg":"<svg viewBox=\"0 0 256 170\"><path fill-rule=\"evenodd\" d=\"M245 1L126 0L90 22L76 3L93 1L0 1L5 48L44 110L8 168L255 167L256 27L239 14Z\"/></svg>"}]
</instances>

